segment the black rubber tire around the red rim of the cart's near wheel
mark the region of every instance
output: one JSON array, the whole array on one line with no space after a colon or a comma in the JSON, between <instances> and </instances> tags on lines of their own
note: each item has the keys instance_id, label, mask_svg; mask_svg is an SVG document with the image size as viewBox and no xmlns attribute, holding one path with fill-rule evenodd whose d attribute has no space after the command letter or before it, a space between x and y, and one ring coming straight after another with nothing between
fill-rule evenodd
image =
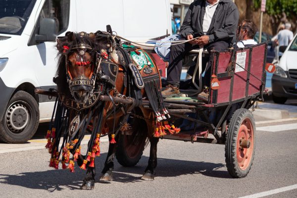
<instances>
[{"instance_id":1,"label":"black rubber tire around the red rim of the cart's near wheel","mask_svg":"<svg viewBox=\"0 0 297 198\"><path fill-rule=\"evenodd\" d=\"M252 150L252 156L251 156L249 165L247 166L246 170L242 170L240 169L237 162L237 137L238 137L239 128L242 122L246 118L249 118L253 127L253 150ZM256 146L255 138L256 138L256 131L255 131L255 121L254 121L253 115L248 109L245 109L245 108L237 109L230 119L228 130L227 130L226 143L225 143L226 166L229 174L232 177L243 178L247 176L251 168L254 154L255 154L255 146Z\"/></svg>"}]
</instances>

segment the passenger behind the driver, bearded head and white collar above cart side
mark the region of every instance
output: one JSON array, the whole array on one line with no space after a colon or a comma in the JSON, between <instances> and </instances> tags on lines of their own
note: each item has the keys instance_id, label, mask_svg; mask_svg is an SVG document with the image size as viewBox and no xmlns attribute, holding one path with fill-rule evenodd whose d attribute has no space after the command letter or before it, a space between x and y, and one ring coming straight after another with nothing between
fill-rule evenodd
<instances>
[{"instance_id":1,"label":"passenger behind the driver, bearded head and white collar above cart side","mask_svg":"<svg viewBox=\"0 0 297 198\"><path fill-rule=\"evenodd\" d=\"M257 26L251 20L243 20L237 32L239 41L233 45L234 49L256 45L257 42L253 39L256 32Z\"/></svg>"}]
</instances>

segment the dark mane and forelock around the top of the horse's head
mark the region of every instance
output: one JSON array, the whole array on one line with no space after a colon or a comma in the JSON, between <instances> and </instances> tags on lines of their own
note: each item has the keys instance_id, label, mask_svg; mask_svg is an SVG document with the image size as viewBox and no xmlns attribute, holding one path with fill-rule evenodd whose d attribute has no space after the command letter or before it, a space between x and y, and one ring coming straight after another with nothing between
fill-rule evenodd
<instances>
[{"instance_id":1,"label":"dark mane and forelock around the top of the horse's head","mask_svg":"<svg viewBox=\"0 0 297 198\"><path fill-rule=\"evenodd\" d=\"M101 32L98 31L98 34ZM58 49L57 57L58 57L58 65L56 71L56 77L54 78L54 83L57 85L58 92L64 93L67 97L71 97L70 89L66 80L66 58L74 52L76 49L72 49L74 46L78 44L88 44L91 46L92 50L88 51L92 57L92 63L96 64L96 53L100 51L100 49L108 49L108 45L110 44L108 39L102 38L95 34L89 34L89 37L82 37L79 33L67 32L65 37L61 37L57 40L56 48ZM64 47L67 46L69 49L64 50Z\"/></svg>"}]
</instances>

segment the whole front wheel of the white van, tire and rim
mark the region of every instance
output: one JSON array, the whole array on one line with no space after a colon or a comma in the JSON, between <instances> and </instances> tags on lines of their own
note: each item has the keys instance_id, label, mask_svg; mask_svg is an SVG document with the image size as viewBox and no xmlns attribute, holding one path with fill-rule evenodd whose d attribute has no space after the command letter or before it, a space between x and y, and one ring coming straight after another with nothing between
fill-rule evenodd
<instances>
[{"instance_id":1,"label":"whole front wheel of the white van, tire and rim","mask_svg":"<svg viewBox=\"0 0 297 198\"><path fill-rule=\"evenodd\" d=\"M18 91L9 100L0 122L0 140L5 143L25 143L37 131L39 108L27 92Z\"/></svg>"}]
</instances>

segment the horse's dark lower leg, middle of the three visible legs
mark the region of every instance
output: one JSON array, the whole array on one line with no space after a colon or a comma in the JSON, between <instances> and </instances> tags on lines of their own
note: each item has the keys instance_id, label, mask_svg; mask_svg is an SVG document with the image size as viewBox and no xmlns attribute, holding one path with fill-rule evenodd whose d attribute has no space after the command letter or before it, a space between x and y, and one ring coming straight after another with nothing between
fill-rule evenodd
<instances>
[{"instance_id":1,"label":"horse's dark lower leg, middle of the three visible legs","mask_svg":"<svg viewBox=\"0 0 297 198\"><path fill-rule=\"evenodd\" d=\"M119 135L117 135L115 137L115 141L118 142L119 140ZM110 135L108 136L109 141L110 141ZM113 159L115 156L115 149L116 149L117 144L110 144L109 143L109 147L108 147L108 152L107 152L107 157L104 163L104 168L102 169L102 175L100 177L100 182L110 182L112 181L112 171L114 168L114 164L113 164Z\"/></svg>"}]
</instances>

